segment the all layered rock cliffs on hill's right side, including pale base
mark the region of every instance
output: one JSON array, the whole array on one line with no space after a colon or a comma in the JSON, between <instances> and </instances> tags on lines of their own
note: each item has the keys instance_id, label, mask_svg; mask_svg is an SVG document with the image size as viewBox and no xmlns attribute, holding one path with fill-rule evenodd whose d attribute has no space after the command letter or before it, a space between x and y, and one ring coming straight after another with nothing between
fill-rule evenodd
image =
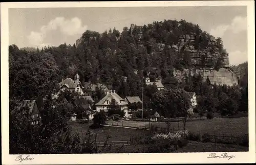
<instances>
[{"instance_id":1,"label":"all layered rock cliffs on hill's right side, including pale base","mask_svg":"<svg viewBox=\"0 0 256 165\"><path fill-rule=\"evenodd\" d=\"M229 68L228 54L220 54L218 49L211 45L215 45L215 38L211 38L209 46L203 51L196 51L192 43L195 41L194 36L182 36L177 45L169 46L176 54L175 58L183 60L185 53L190 56L190 62L193 67L183 70L174 70L174 76L183 81L186 75L201 75L203 80L206 81L209 77L212 84L217 85L226 84L232 86L238 84L238 76ZM212 49L214 48L214 49ZM204 58L204 62L202 59ZM219 62L219 69L216 70L214 66Z\"/></svg>"}]
</instances>

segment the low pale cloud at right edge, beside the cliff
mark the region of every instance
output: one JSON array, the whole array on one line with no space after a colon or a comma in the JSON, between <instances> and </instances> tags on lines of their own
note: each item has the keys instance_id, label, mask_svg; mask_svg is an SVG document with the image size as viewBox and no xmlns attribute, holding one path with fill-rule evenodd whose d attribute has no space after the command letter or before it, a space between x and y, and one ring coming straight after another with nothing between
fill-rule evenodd
<instances>
[{"instance_id":1,"label":"low pale cloud at right edge, beside the cliff","mask_svg":"<svg viewBox=\"0 0 256 165\"><path fill-rule=\"evenodd\" d=\"M229 53L229 64L230 65L238 65L240 63L244 63L248 60L247 51L234 51Z\"/></svg>"}]
</instances>

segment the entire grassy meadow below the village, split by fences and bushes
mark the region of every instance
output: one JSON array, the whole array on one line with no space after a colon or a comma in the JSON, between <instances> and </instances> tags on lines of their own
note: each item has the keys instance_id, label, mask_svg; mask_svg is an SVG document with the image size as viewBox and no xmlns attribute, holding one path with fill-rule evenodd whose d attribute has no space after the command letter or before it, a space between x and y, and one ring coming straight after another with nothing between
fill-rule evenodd
<instances>
[{"instance_id":1,"label":"entire grassy meadow below the village, split by fences and bushes","mask_svg":"<svg viewBox=\"0 0 256 165\"><path fill-rule=\"evenodd\" d=\"M216 131L216 135L225 134L232 136L243 135L244 133L248 133L248 118L234 118L234 119L212 119L212 120L202 120L202 121L193 121L187 122L187 129L193 132L200 133L209 133L214 134ZM112 122L107 122L108 124L112 124ZM134 121L123 121L118 122L118 125L123 126L144 126L147 125L148 122L134 122ZM117 122L113 122L113 124L117 124ZM112 127L112 126L103 126L101 128L90 128L89 123L81 124L79 122L70 122L70 126L72 128L72 132L78 132L80 136L83 138L88 131L92 133L92 142L95 142L95 134L96 141L105 142L108 139L108 142L114 141L130 141L131 138L140 138L146 137L149 133L147 130L140 129L132 129L132 128L122 128L122 127ZM153 125L158 125L159 127L166 127L165 123L153 123ZM175 127L178 129L177 123L172 122L171 127ZM182 122L180 123L180 128L182 128ZM218 132L219 131L219 132ZM108 138L109 136L109 138ZM129 146L111 146L109 150L104 150L101 153L143 153L146 152L148 148L148 144L140 144L135 143ZM100 147L99 147L100 150ZM248 151L248 147L234 145L234 144L216 144L216 143L203 143L203 142L195 142L190 141L187 146L183 148L179 148L175 152L238 152L238 151Z\"/></svg>"}]
</instances>

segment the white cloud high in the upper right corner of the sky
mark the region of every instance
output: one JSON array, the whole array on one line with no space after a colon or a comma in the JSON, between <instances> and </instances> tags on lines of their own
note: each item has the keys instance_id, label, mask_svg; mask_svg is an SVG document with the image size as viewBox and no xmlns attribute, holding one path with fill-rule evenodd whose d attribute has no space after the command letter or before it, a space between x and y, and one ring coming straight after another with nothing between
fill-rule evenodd
<instances>
[{"instance_id":1,"label":"white cloud high in the upper right corner of the sky","mask_svg":"<svg viewBox=\"0 0 256 165\"><path fill-rule=\"evenodd\" d=\"M210 34L215 37L222 37L228 30L235 34L247 30L247 18L236 16L230 25L220 25L215 29L211 29Z\"/></svg>"}]
</instances>

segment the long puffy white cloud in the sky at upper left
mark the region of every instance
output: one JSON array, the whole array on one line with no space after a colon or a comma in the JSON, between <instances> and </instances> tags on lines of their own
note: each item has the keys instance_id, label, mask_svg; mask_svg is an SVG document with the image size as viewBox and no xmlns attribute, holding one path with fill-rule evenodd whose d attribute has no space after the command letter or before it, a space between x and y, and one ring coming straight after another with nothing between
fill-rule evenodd
<instances>
[{"instance_id":1,"label":"long puffy white cloud in the sky at upper left","mask_svg":"<svg viewBox=\"0 0 256 165\"><path fill-rule=\"evenodd\" d=\"M44 39L51 31L59 30L63 35L73 36L76 34L82 34L86 31L87 26L82 26L81 19L74 17L72 19L66 19L64 17L56 17L49 21L47 25L40 28L39 32L32 31L28 36L29 43L41 47L47 45L44 43Z\"/></svg>"}]
</instances>

